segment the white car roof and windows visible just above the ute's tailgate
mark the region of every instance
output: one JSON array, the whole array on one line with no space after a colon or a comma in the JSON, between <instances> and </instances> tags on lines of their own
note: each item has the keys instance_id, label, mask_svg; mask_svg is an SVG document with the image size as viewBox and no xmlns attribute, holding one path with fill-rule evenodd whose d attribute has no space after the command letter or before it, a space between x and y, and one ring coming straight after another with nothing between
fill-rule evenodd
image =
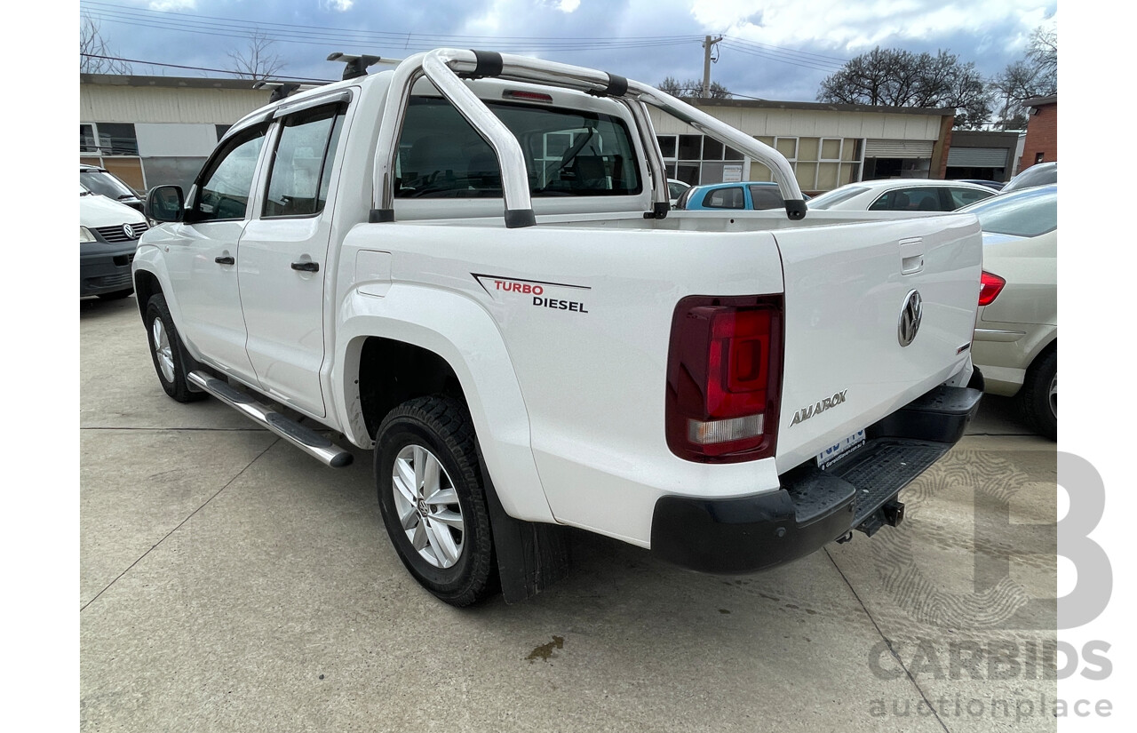
<instances>
[{"instance_id":1,"label":"white car roof and windows visible just above the ute's tailgate","mask_svg":"<svg viewBox=\"0 0 1137 733\"><path fill-rule=\"evenodd\" d=\"M848 183L814 197L811 209L833 211L954 211L995 195L995 191L962 181L886 178Z\"/></svg>"}]
</instances>

